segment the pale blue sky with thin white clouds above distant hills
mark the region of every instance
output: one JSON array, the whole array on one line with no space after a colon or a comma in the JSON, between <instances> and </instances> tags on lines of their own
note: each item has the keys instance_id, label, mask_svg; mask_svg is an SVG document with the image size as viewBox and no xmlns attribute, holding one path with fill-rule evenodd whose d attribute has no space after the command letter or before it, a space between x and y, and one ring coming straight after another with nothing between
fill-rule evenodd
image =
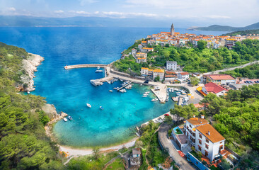
<instances>
[{"instance_id":1,"label":"pale blue sky with thin white clouds above distant hills","mask_svg":"<svg viewBox=\"0 0 259 170\"><path fill-rule=\"evenodd\" d=\"M259 22L259 0L0 0L0 15L181 20L198 26Z\"/></svg>"}]
</instances>

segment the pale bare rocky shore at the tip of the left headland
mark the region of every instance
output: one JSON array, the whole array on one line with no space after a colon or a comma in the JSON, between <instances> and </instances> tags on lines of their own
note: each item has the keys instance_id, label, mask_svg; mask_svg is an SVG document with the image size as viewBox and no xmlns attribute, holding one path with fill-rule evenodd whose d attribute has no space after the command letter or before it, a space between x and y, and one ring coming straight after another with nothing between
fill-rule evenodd
<instances>
[{"instance_id":1,"label":"pale bare rocky shore at the tip of the left headland","mask_svg":"<svg viewBox=\"0 0 259 170\"><path fill-rule=\"evenodd\" d=\"M44 61L44 58L40 55L34 55L29 53L28 59L23 60L23 68L25 69L26 75L21 77L21 81L23 82L23 91L34 91L34 81L33 78L34 72L37 72L38 65ZM24 86L27 84L27 86Z\"/></svg>"}]
</instances>

